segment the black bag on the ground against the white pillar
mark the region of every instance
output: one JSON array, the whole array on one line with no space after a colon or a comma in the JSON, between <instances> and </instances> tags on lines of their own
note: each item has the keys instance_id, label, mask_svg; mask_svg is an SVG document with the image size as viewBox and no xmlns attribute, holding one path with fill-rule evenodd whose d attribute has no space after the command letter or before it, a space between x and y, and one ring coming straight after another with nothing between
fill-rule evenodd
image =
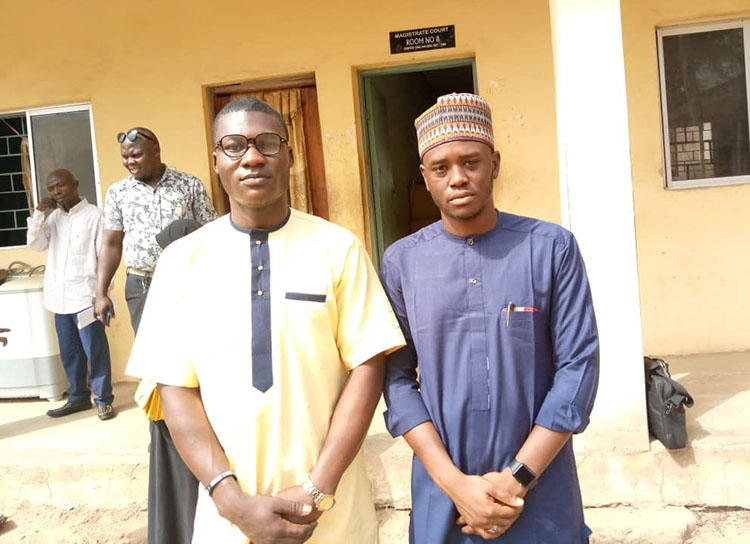
<instances>
[{"instance_id":1,"label":"black bag on the ground against the white pillar","mask_svg":"<svg viewBox=\"0 0 750 544\"><path fill-rule=\"evenodd\" d=\"M646 407L648 430L668 449L687 445L685 406L693 405L690 396L669 374L669 365L662 359L644 357L646 369Z\"/></svg>"}]
</instances>

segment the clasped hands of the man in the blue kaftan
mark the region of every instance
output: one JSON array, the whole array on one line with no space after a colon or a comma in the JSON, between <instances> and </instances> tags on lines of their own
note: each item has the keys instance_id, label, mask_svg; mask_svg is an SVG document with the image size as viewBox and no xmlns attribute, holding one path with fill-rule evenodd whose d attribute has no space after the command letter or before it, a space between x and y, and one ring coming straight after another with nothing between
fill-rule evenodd
<instances>
[{"instance_id":1,"label":"clasped hands of the man in the blue kaftan","mask_svg":"<svg viewBox=\"0 0 750 544\"><path fill-rule=\"evenodd\" d=\"M485 540L499 537L513 525L523 511L527 492L508 468L482 476L464 475L454 489L456 524L462 526L462 533Z\"/></svg>"}]
</instances>

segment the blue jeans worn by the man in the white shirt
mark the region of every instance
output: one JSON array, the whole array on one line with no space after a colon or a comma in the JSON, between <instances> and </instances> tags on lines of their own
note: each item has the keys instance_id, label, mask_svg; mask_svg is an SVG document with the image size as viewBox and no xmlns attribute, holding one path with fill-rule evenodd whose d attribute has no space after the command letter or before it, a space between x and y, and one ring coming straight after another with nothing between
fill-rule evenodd
<instances>
[{"instance_id":1,"label":"blue jeans worn by the man in the white shirt","mask_svg":"<svg viewBox=\"0 0 750 544\"><path fill-rule=\"evenodd\" d=\"M87 360L91 363L91 389L96 404L112 404L112 366L109 342L100 321L78 329L76 314L55 314L55 329L60 358L68 377L68 402L78 404L91 400Z\"/></svg>"}]
</instances>

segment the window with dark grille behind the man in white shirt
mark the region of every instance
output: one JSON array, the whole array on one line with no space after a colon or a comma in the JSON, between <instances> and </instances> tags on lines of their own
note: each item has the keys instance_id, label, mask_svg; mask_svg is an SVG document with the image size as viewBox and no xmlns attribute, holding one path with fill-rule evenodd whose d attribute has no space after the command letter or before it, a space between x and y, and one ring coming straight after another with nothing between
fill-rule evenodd
<instances>
[{"instance_id":1,"label":"window with dark grille behind the man in white shirt","mask_svg":"<svg viewBox=\"0 0 750 544\"><path fill-rule=\"evenodd\" d=\"M0 247L26 245L26 218L56 168L70 170L81 196L99 204L91 106L0 114Z\"/></svg>"}]
</instances>

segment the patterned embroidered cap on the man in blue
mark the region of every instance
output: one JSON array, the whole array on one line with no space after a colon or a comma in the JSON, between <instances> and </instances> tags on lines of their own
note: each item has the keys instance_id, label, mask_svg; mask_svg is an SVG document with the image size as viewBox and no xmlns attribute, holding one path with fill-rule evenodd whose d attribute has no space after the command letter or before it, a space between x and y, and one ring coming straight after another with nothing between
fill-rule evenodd
<instances>
[{"instance_id":1,"label":"patterned embroidered cap on the man in blue","mask_svg":"<svg viewBox=\"0 0 750 544\"><path fill-rule=\"evenodd\" d=\"M475 94L438 97L434 106L417 117L414 126L420 159L433 147L456 140L473 140L495 148L490 105Z\"/></svg>"}]
</instances>

